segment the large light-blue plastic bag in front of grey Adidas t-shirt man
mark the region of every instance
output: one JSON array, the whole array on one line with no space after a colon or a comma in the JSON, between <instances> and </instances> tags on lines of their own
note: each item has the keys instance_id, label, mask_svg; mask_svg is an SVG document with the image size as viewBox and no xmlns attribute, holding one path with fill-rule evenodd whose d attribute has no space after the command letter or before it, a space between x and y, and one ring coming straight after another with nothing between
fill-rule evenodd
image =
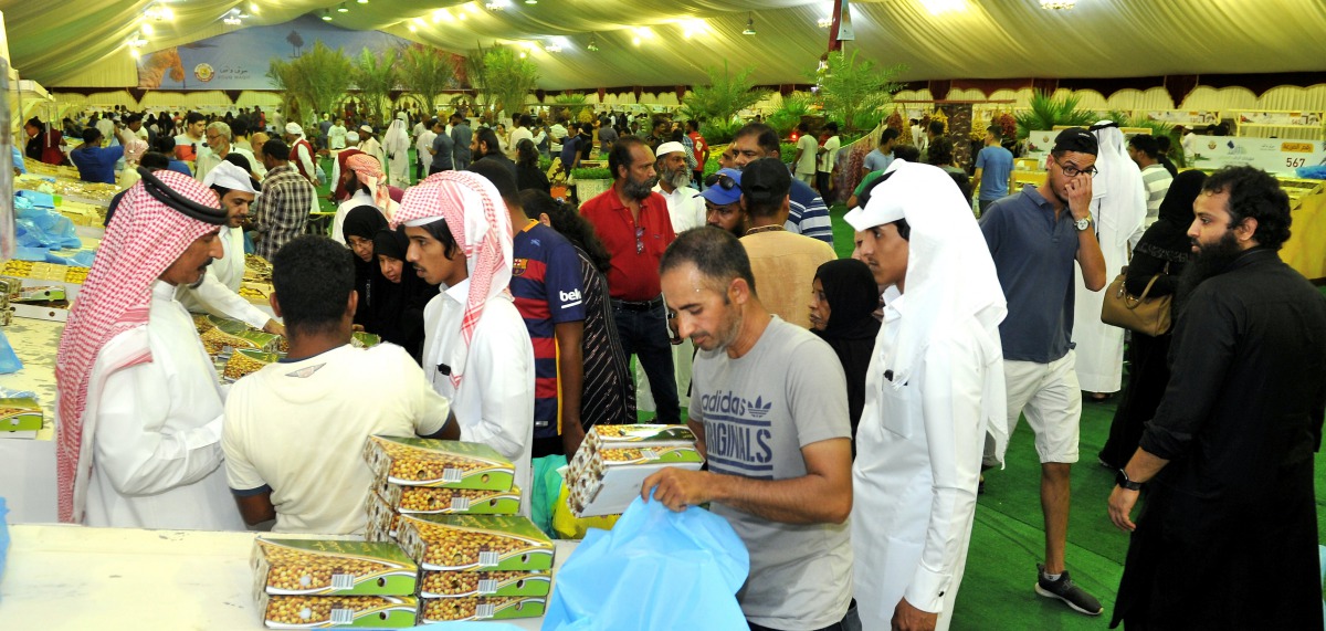
<instances>
[{"instance_id":1,"label":"large light-blue plastic bag in front of grey Adidas t-shirt man","mask_svg":"<svg viewBox=\"0 0 1326 631\"><path fill-rule=\"evenodd\" d=\"M542 628L747 628L736 593L749 571L745 544L723 517L636 498L562 565Z\"/></svg>"}]
</instances>

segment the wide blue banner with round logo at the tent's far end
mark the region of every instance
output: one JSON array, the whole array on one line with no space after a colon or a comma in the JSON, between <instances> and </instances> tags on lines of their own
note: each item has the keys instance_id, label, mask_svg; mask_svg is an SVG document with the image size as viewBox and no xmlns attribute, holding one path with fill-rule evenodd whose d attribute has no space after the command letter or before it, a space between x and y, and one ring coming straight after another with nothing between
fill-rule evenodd
<instances>
[{"instance_id":1,"label":"wide blue banner with round logo at the tent's far end","mask_svg":"<svg viewBox=\"0 0 1326 631\"><path fill-rule=\"evenodd\" d=\"M335 13L342 16L345 13ZM294 60L314 42L357 57L414 42L379 30L351 30L308 15L284 24L251 27L191 44L145 53L138 60L138 87L152 90L272 90L272 58ZM453 56L457 60L461 57ZM463 68L463 64L457 68Z\"/></svg>"}]
</instances>

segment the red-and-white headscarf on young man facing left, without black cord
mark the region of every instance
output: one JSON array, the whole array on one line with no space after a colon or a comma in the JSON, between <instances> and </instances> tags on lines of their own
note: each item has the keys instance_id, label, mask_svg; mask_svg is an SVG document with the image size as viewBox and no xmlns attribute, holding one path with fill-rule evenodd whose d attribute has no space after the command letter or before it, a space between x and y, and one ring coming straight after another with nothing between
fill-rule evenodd
<instances>
[{"instance_id":1,"label":"red-and-white headscarf on young man facing left, without black cord","mask_svg":"<svg viewBox=\"0 0 1326 631\"><path fill-rule=\"evenodd\" d=\"M459 387L484 305L511 288L511 213L497 188L484 176L443 171L406 191L391 225L419 227L439 219L447 221L469 272L469 294L460 322L463 347L453 355L459 361L451 366L451 383Z\"/></svg>"}]
</instances>

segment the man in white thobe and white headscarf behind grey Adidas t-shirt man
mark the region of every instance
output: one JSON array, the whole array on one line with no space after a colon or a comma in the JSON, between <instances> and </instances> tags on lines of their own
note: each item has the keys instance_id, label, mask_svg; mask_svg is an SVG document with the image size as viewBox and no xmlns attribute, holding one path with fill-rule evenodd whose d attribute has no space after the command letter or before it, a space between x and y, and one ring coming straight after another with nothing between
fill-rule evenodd
<instances>
[{"instance_id":1,"label":"man in white thobe and white headscarf behind grey Adidas t-shirt man","mask_svg":"<svg viewBox=\"0 0 1326 631\"><path fill-rule=\"evenodd\" d=\"M1008 439L1004 293L971 203L940 168L899 160L845 219L857 229L853 256L891 297L853 464L862 628L944 630L967 563L985 432L998 433L998 457Z\"/></svg>"}]
</instances>

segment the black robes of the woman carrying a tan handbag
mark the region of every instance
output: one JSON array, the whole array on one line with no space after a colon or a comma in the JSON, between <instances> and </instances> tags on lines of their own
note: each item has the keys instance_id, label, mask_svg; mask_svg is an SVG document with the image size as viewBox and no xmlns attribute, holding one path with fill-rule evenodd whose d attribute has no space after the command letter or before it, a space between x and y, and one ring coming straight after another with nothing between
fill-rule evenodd
<instances>
[{"instance_id":1,"label":"black robes of the woman carrying a tan handbag","mask_svg":"<svg viewBox=\"0 0 1326 631\"><path fill-rule=\"evenodd\" d=\"M1192 203L1201 192L1205 179L1207 174L1201 171L1184 171L1170 184L1170 192L1160 201L1159 219L1142 235L1132 251L1132 260L1128 261L1124 280L1128 294L1142 296L1151 278L1160 274L1147 297L1174 296L1192 251L1192 240L1188 239L1188 227L1193 219ZM1171 322L1176 317L1177 313L1171 313ZM1172 337L1171 333L1151 337L1132 331L1132 341L1128 343L1128 382L1123 387L1119 407L1114 411L1110 437L1101 449L1101 464L1111 469L1123 468L1132 452L1138 451L1143 424L1155 415L1170 382L1167 357Z\"/></svg>"}]
</instances>

